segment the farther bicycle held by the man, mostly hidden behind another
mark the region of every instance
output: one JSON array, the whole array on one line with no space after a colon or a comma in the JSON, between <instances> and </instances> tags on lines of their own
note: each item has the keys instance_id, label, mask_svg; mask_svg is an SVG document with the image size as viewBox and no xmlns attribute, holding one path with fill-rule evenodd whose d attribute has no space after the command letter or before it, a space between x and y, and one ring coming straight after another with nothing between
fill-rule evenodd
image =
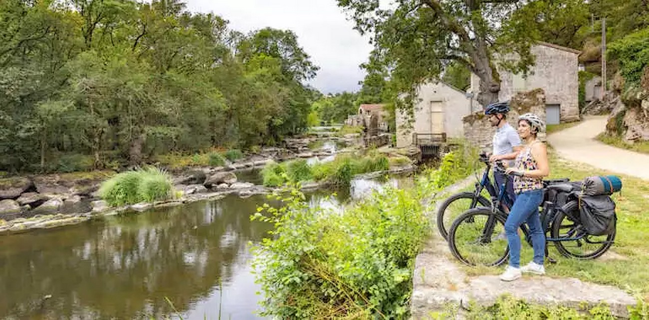
<instances>
[{"instance_id":1,"label":"farther bicycle held by the man, mostly hidden behind another","mask_svg":"<svg viewBox=\"0 0 649 320\"><path fill-rule=\"evenodd\" d=\"M484 173L482 174L482 179L476 182L475 189L469 192L459 192L448 197L447 200L444 200L439 205L437 209L437 230L439 234L445 239L448 240L448 227L453 221L462 213L468 209L473 209L475 207L490 207L491 203L498 198L498 187L496 183L491 182L489 177L489 172L491 171L491 162L489 162L489 156L487 154L480 154L480 162L484 163L486 166ZM555 180L545 180L543 183L546 185L554 183L565 183L569 179L555 179ZM491 200L487 199L483 195L483 191L486 190L489 194ZM509 212L509 208L513 205L513 199L509 198L508 194L504 194L501 200L499 201L498 207L503 212Z\"/></svg>"}]
</instances>

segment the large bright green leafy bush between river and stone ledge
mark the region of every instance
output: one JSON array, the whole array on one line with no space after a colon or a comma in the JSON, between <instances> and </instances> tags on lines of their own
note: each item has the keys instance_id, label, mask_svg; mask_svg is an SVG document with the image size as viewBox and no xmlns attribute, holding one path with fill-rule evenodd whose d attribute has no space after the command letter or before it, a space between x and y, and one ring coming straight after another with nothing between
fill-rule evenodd
<instances>
[{"instance_id":1,"label":"large bright green leafy bush between river and stone ledge","mask_svg":"<svg viewBox=\"0 0 649 320\"><path fill-rule=\"evenodd\" d=\"M297 189L284 191L285 207L264 205L253 216L276 226L254 249L262 315L406 318L414 258L430 232L416 189L374 192L340 214L310 208Z\"/></svg>"}]
</instances>

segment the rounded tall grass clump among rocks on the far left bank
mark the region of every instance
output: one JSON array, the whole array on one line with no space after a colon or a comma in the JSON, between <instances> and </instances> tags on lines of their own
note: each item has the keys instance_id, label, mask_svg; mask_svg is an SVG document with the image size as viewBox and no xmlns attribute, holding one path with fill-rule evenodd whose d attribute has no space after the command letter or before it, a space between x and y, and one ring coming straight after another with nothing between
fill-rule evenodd
<instances>
[{"instance_id":1,"label":"rounded tall grass clump among rocks on the far left bank","mask_svg":"<svg viewBox=\"0 0 649 320\"><path fill-rule=\"evenodd\" d=\"M153 202L173 197L171 177L155 167L122 172L104 181L99 196L109 205Z\"/></svg>"}]
</instances>

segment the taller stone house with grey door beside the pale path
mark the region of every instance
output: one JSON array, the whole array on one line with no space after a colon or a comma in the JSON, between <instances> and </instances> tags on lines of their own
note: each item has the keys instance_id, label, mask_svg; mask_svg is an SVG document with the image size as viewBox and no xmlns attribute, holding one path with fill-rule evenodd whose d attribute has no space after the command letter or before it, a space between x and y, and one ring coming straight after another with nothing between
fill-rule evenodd
<instances>
[{"instance_id":1,"label":"taller stone house with grey door beside the pale path","mask_svg":"<svg viewBox=\"0 0 649 320\"><path fill-rule=\"evenodd\" d=\"M530 49L535 65L528 76L498 70L498 100L507 101L517 93L543 89L547 124L579 120L578 56L580 51L539 41ZM471 74L471 92L477 93L480 79Z\"/></svg>"}]
</instances>

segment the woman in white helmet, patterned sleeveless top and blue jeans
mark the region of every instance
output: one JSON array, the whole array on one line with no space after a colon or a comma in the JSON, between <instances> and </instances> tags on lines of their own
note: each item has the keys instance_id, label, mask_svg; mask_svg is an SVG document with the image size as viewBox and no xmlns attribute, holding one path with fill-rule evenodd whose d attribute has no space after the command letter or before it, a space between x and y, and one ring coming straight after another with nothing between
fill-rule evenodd
<instances>
[{"instance_id":1,"label":"woman in white helmet, patterned sleeveless top and blue jeans","mask_svg":"<svg viewBox=\"0 0 649 320\"><path fill-rule=\"evenodd\" d=\"M505 233L509 244L509 266L500 279L513 281L519 279L522 272L545 274L545 233L539 218L539 205L543 201L543 177L550 174L548 150L544 143L537 139L537 134L544 128L543 121L533 113L519 117L518 133L524 141L523 149L515 155L515 165L507 168L508 174L514 176L516 201L505 223ZM534 258L527 266L520 268L520 236L517 232L520 225L526 222L532 235Z\"/></svg>"}]
</instances>

